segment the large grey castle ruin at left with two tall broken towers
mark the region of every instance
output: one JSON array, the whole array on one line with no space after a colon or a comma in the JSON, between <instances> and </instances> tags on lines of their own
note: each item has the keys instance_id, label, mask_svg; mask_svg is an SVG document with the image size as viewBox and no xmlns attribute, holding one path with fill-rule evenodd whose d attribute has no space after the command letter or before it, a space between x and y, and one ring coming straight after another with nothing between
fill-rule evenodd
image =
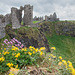
<instances>
[{"instance_id":1,"label":"large grey castle ruin at left with two tall broken towers","mask_svg":"<svg viewBox=\"0 0 75 75\"><path fill-rule=\"evenodd\" d=\"M24 16L22 18L22 11L24 10ZM18 29L21 27L21 22L24 25L32 25L33 23L33 6L25 5L20 6L20 9L15 7L11 8L11 13L5 16L0 15L0 39L5 37L5 27L8 24L12 24L12 29Z\"/></svg>"}]
</instances>

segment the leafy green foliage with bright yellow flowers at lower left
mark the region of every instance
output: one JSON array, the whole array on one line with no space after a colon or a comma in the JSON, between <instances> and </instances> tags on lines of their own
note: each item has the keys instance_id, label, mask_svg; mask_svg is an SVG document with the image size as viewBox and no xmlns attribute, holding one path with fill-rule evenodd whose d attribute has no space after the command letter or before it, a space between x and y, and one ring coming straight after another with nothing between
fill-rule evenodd
<instances>
[{"instance_id":1,"label":"leafy green foliage with bright yellow flowers at lower left","mask_svg":"<svg viewBox=\"0 0 75 75\"><path fill-rule=\"evenodd\" d=\"M36 65L38 59L43 60L42 55L41 48L38 49L32 46L22 49L15 46L2 47L0 50L0 73L7 72L11 67L15 68L16 65L18 65L18 69L26 65Z\"/></svg>"}]
</instances>

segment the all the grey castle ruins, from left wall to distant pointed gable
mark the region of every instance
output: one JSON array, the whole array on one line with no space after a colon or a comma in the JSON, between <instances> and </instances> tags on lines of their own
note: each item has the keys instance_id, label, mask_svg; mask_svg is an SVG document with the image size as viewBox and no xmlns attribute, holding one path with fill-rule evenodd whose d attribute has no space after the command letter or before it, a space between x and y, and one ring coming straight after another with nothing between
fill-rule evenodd
<instances>
[{"instance_id":1,"label":"all the grey castle ruins, from left wall to distant pointed gable","mask_svg":"<svg viewBox=\"0 0 75 75\"><path fill-rule=\"evenodd\" d=\"M24 11L24 16L22 17ZM21 22L24 23L23 26L29 26L29 27L38 27L38 24L33 24L33 21L41 21L43 22L43 17L34 17L33 18L33 6L31 5L25 5L20 6L20 8L11 8L11 13L6 14L5 16L0 15L0 39L5 37L5 27L8 24L12 24L12 29L18 29L20 28ZM50 16L45 16L45 21L59 21L59 18L57 18L56 13Z\"/></svg>"}]
</instances>

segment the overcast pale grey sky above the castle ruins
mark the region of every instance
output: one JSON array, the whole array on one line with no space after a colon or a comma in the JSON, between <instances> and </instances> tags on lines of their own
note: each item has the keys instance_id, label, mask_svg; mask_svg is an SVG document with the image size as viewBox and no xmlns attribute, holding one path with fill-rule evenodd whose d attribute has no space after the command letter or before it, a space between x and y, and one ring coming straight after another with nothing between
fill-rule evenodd
<instances>
[{"instance_id":1,"label":"overcast pale grey sky above the castle ruins","mask_svg":"<svg viewBox=\"0 0 75 75\"><path fill-rule=\"evenodd\" d=\"M75 20L75 0L0 0L0 14L26 4L33 5L33 16L49 16L56 12L61 20Z\"/></svg>"}]
</instances>

